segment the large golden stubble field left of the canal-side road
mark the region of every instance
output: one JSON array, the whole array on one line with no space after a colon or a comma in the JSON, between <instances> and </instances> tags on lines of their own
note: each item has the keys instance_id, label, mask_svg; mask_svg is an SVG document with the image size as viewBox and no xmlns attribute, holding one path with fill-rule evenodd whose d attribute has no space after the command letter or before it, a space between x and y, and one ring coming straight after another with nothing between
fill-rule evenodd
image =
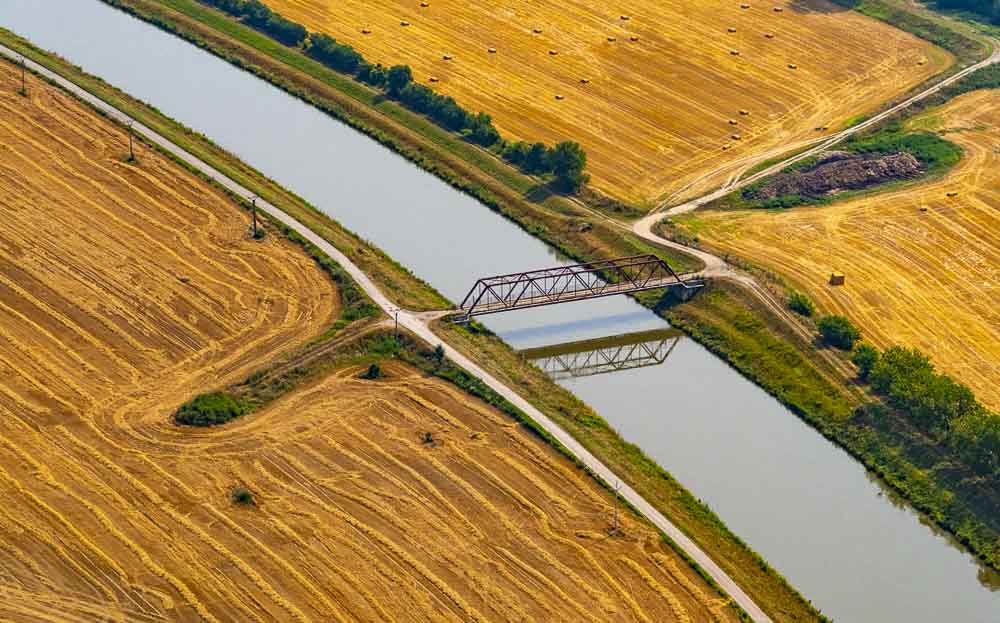
<instances>
[{"instance_id":1,"label":"large golden stubble field left of the canal-side road","mask_svg":"<svg viewBox=\"0 0 1000 623\"><path fill-rule=\"evenodd\" d=\"M0 64L0 84L15 74ZM194 393L328 327L294 246L54 88L0 92L0 619L731 621L511 420L401 365L220 429ZM435 446L422 442L431 432ZM233 505L237 485L256 508Z\"/></svg>"}]
</instances>

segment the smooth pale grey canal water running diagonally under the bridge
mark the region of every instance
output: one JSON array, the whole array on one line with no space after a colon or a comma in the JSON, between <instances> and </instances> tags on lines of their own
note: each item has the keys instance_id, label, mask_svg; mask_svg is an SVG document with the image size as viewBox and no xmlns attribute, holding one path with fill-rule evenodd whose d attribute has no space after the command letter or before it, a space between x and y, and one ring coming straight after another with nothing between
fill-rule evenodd
<instances>
[{"instance_id":1,"label":"smooth pale grey canal water running diagonally under the bridge","mask_svg":"<svg viewBox=\"0 0 1000 623\"><path fill-rule=\"evenodd\" d=\"M98 0L0 0L0 26L205 134L452 300L477 276L563 261L367 137ZM515 348L666 327L624 297L486 324ZM659 365L560 382L835 620L1000 621L995 574L691 340Z\"/></svg>"}]
</instances>

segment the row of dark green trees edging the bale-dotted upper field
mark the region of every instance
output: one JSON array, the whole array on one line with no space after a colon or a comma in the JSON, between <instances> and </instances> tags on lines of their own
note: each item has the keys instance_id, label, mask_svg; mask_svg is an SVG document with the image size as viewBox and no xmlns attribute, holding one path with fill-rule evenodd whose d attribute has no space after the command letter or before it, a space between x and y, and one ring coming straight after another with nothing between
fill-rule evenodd
<instances>
[{"instance_id":1,"label":"row of dark green trees edging the bale-dotted upper field","mask_svg":"<svg viewBox=\"0 0 1000 623\"><path fill-rule=\"evenodd\" d=\"M435 124L456 132L469 142L499 154L507 162L531 175L551 175L557 188L576 192L587 183L584 173L587 154L576 142L564 141L554 147L544 143L508 142L501 138L492 118L471 113L454 98L413 81L408 65L384 67L369 63L360 52L329 35L312 33L275 13L259 0L200 0L289 47L301 47L305 53L335 71L381 89L406 108L426 115Z\"/></svg>"}]
</instances>

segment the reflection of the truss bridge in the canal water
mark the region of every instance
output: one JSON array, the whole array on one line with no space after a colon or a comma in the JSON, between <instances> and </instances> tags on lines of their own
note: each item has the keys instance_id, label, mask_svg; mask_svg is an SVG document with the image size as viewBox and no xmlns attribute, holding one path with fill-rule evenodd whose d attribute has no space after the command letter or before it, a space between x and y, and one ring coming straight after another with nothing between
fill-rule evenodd
<instances>
[{"instance_id":1,"label":"reflection of the truss bridge in the canal water","mask_svg":"<svg viewBox=\"0 0 1000 623\"><path fill-rule=\"evenodd\" d=\"M655 329L519 351L556 381L658 366L684 334Z\"/></svg>"}]
</instances>

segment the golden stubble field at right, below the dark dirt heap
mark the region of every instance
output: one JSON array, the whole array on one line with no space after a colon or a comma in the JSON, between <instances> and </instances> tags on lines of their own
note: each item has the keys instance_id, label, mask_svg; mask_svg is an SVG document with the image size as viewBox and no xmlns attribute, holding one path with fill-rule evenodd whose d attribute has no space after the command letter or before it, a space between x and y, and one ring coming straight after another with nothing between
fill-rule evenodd
<instances>
[{"instance_id":1,"label":"golden stubble field at right, below the dark dirt heap","mask_svg":"<svg viewBox=\"0 0 1000 623\"><path fill-rule=\"evenodd\" d=\"M914 121L965 151L944 178L785 212L699 212L699 237L774 268L885 347L914 346L1000 409L1000 91ZM846 285L827 285L831 272Z\"/></svg>"}]
</instances>

